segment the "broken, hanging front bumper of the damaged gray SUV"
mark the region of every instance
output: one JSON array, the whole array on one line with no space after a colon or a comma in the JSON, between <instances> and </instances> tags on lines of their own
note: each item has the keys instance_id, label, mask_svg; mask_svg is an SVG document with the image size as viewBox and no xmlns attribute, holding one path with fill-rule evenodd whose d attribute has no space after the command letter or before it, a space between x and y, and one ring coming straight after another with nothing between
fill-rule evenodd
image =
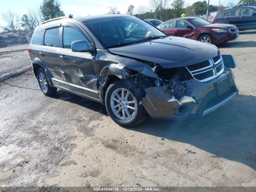
<instances>
[{"instance_id":1,"label":"broken, hanging front bumper of the damaged gray SUV","mask_svg":"<svg viewBox=\"0 0 256 192\"><path fill-rule=\"evenodd\" d=\"M184 96L179 100L163 86L146 88L142 104L152 118L188 118L204 116L223 106L238 94L232 71L224 72L210 82L186 81Z\"/></svg>"}]
</instances>

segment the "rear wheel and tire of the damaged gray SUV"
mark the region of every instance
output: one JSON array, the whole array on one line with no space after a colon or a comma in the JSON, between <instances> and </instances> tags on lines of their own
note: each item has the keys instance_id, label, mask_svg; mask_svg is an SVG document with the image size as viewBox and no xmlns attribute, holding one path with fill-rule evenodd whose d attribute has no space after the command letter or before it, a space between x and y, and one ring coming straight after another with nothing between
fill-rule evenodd
<instances>
[{"instance_id":1,"label":"rear wheel and tire of the damaged gray SUV","mask_svg":"<svg viewBox=\"0 0 256 192\"><path fill-rule=\"evenodd\" d=\"M44 68L39 68L37 70L37 80L38 80L38 84L40 86L41 91L43 92L43 94L45 94L46 96L52 96L54 94L56 94L57 92L57 88L55 87L51 87L47 76L45 74Z\"/></svg>"}]
</instances>

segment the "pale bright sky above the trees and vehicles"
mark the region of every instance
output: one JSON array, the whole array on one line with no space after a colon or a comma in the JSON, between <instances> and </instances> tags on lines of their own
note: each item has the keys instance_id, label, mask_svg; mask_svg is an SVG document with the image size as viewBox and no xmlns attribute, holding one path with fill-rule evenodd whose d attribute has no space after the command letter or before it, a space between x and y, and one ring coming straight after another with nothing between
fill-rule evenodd
<instances>
[{"instance_id":1,"label":"pale bright sky above the trees and vehicles","mask_svg":"<svg viewBox=\"0 0 256 192\"><path fill-rule=\"evenodd\" d=\"M6 13L8 10L17 13L19 16L26 14L28 9L39 9L43 0L2 0L0 13ZM149 0L58 0L61 9L66 15L73 14L74 16L99 15L108 13L109 6L116 6L121 14L126 14L126 10L130 4L134 5L134 10L138 6L150 6ZM185 0L185 6L192 5L198 0ZM170 0L172 2L172 0ZM220 4L226 5L228 2L238 0L220 0ZM171 4L171 3L170 3ZM210 4L218 5L219 0L210 0ZM5 23L0 17L0 26Z\"/></svg>"}]
</instances>

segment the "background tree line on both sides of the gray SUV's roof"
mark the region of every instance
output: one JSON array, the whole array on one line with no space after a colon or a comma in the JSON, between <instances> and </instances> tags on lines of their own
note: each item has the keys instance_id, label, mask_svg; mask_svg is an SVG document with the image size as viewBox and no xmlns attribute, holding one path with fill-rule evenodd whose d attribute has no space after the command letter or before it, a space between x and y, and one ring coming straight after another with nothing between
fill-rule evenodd
<instances>
[{"instance_id":1,"label":"background tree line on both sides of the gray SUV's roof","mask_svg":"<svg viewBox=\"0 0 256 192\"><path fill-rule=\"evenodd\" d=\"M134 15L142 19L156 18L160 20L169 20L172 18L180 17L182 13L186 16L200 16L206 14L208 4L206 0L198 1L190 6L185 6L184 0L148 0L150 6L128 6L126 13ZM256 2L256 0L250 0ZM240 0L238 4L248 3L248 0ZM210 12L223 10L228 7L235 6L234 3L228 2L226 6L209 5ZM121 14L116 6L109 7L109 14ZM20 17L18 14L8 11L0 15L1 19L6 22L6 26L2 26L2 30L6 32L16 32L24 30L33 32L34 29L44 20L65 16L64 12L60 9L60 2L58 0L43 0L39 9L29 9L27 14Z\"/></svg>"}]
</instances>

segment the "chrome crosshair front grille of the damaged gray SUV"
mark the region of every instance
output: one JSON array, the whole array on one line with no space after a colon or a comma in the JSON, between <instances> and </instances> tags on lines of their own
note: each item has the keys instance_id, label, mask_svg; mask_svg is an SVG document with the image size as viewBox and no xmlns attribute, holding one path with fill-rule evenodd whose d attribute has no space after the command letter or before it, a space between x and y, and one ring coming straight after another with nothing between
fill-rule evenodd
<instances>
[{"instance_id":1,"label":"chrome crosshair front grille of the damaged gray SUV","mask_svg":"<svg viewBox=\"0 0 256 192\"><path fill-rule=\"evenodd\" d=\"M186 68L194 79L206 82L222 74L224 71L224 62L221 54L218 54L212 59L187 66Z\"/></svg>"}]
</instances>

